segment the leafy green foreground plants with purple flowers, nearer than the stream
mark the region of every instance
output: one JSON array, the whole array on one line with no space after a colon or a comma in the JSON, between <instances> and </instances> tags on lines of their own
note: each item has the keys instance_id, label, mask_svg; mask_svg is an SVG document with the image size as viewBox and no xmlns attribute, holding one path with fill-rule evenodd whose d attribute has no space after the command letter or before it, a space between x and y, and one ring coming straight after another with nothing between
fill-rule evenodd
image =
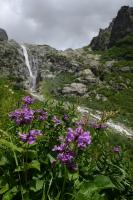
<instances>
[{"instance_id":1,"label":"leafy green foreground plants with purple flowers, nearer than the stream","mask_svg":"<svg viewBox=\"0 0 133 200\"><path fill-rule=\"evenodd\" d=\"M18 105L0 130L0 199L133 198L127 146L114 144L104 119L31 97Z\"/></svg>"}]
</instances>

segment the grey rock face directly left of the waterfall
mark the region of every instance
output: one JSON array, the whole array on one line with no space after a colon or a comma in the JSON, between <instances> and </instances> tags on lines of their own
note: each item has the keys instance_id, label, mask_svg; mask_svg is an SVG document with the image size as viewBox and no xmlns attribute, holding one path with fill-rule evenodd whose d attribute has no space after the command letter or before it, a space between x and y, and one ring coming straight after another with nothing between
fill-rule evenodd
<instances>
[{"instance_id":1,"label":"grey rock face directly left of the waterfall","mask_svg":"<svg viewBox=\"0 0 133 200\"><path fill-rule=\"evenodd\" d=\"M15 41L0 41L0 75L25 82L27 69L21 48Z\"/></svg>"}]
</instances>

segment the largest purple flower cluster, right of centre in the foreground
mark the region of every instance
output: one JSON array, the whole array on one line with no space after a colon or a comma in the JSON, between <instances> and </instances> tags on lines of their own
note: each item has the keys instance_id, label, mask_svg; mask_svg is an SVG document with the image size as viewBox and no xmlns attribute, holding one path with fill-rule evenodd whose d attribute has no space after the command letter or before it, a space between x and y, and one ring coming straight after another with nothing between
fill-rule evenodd
<instances>
[{"instance_id":1,"label":"largest purple flower cluster, right of centre in the foreground","mask_svg":"<svg viewBox=\"0 0 133 200\"><path fill-rule=\"evenodd\" d=\"M74 149L71 147L73 143ZM76 164L74 158L76 157L75 147L83 150L91 144L90 132L84 131L82 127L78 127L75 130L68 129L64 142L60 145L54 146L52 151L57 152L57 159L61 161L63 165L66 165L69 169L75 170Z\"/></svg>"}]
</instances>

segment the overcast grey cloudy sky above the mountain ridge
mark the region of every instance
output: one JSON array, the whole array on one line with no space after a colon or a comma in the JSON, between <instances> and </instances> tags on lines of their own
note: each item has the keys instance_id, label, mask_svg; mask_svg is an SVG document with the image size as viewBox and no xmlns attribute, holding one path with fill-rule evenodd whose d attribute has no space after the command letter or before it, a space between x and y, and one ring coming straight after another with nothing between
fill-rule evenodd
<instances>
[{"instance_id":1,"label":"overcast grey cloudy sky above the mountain ridge","mask_svg":"<svg viewBox=\"0 0 133 200\"><path fill-rule=\"evenodd\" d=\"M0 28L20 43L56 49L88 45L133 0L0 0Z\"/></svg>"}]
</instances>

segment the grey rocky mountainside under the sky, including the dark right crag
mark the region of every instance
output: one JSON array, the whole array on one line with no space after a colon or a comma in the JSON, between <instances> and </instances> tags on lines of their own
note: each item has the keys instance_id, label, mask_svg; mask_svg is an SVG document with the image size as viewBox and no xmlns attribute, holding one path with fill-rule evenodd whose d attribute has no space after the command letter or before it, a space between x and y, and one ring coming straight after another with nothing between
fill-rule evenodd
<instances>
[{"instance_id":1,"label":"grey rocky mountainside under the sky, including the dark right crag","mask_svg":"<svg viewBox=\"0 0 133 200\"><path fill-rule=\"evenodd\" d=\"M108 49L119 39L133 32L132 20L133 8L122 7L109 27L101 29L99 36L92 40L92 49ZM2 34L7 35L4 30ZM131 39L133 40L133 37ZM108 52L109 56L104 63L101 62L101 56L95 54L88 46L76 50L58 51L48 45L25 44L31 70L33 75L36 75L36 90L42 91L42 85L45 85L45 81L47 81L44 90L52 82L52 87L48 90L49 93L54 93L56 96L59 94L64 97L77 95L91 98L93 96L98 100L106 101L107 98L104 94L99 92L102 90L101 88L118 91L132 85L132 80L129 80L132 71L132 48L127 48L127 45L131 44L131 39L123 41L118 47L119 51L122 52L122 46L125 44L122 59L125 55L125 49L128 51L128 58L130 56L130 63L125 60L124 64L117 63L119 52L116 52L116 49L113 52L115 57L111 58L111 54ZM107 57L107 55L105 56ZM21 45L13 40L8 40L7 36L0 41L0 57L0 74L13 78L18 87L29 88L31 77L25 64ZM122 65L122 68L120 69L115 63L119 66ZM126 83L123 84L123 74L121 76L118 74L117 78L115 77L117 72L129 73L125 79Z\"/></svg>"}]
</instances>

